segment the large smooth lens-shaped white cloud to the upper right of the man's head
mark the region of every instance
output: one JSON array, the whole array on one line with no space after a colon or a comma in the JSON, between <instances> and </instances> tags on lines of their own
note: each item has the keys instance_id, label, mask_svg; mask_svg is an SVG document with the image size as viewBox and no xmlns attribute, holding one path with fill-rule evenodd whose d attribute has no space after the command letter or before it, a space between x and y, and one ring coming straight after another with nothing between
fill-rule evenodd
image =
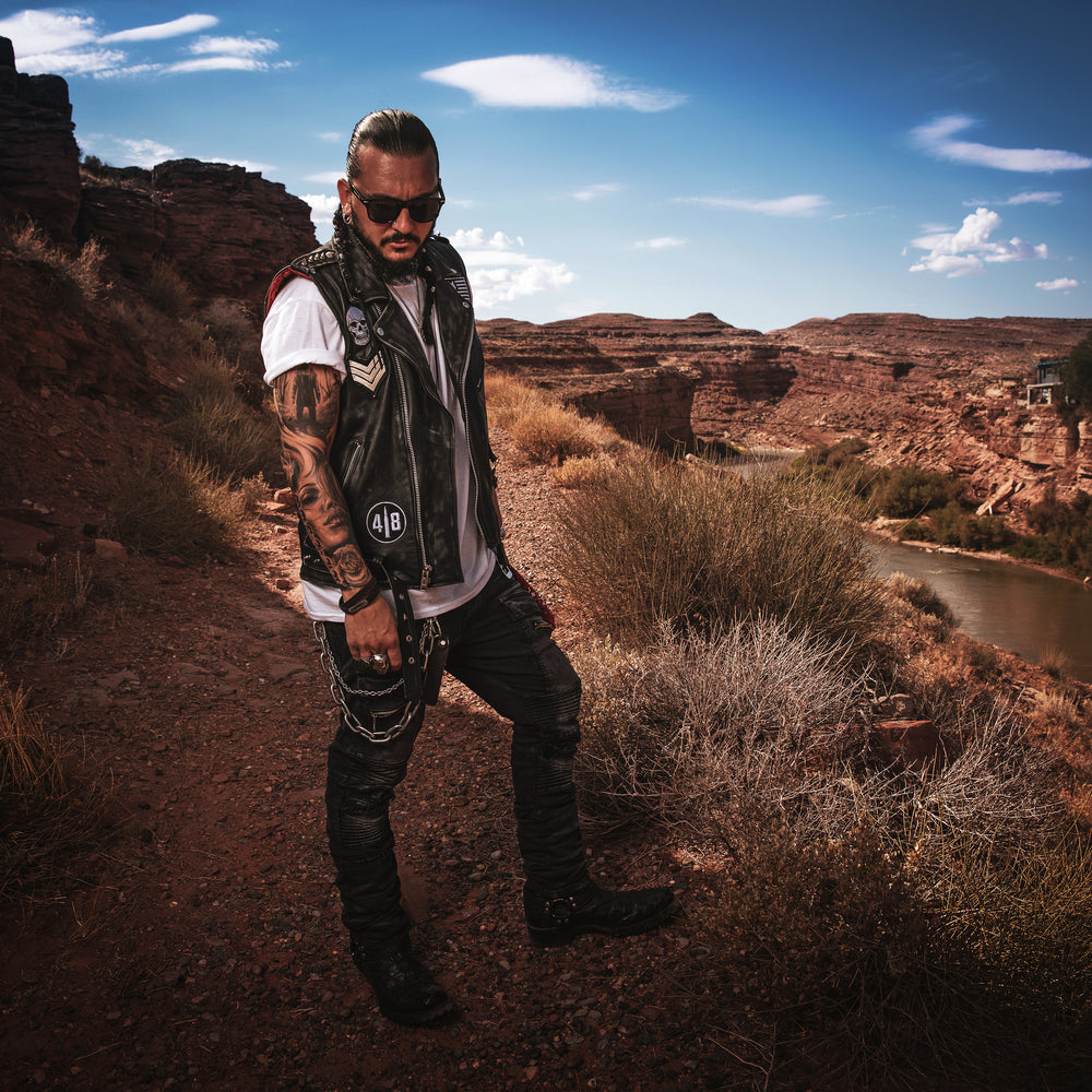
<instances>
[{"instance_id":1,"label":"large smooth lens-shaped white cloud to the upper right of the man's head","mask_svg":"<svg viewBox=\"0 0 1092 1092\"><path fill-rule=\"evenodd\" d=\"M597 64L550 54L521 54L460 61L422 73L426 80L461 87L479 106L626 107L669 110L686 100L669 91L629 86Z\"/></svg>"}]
</instances>

